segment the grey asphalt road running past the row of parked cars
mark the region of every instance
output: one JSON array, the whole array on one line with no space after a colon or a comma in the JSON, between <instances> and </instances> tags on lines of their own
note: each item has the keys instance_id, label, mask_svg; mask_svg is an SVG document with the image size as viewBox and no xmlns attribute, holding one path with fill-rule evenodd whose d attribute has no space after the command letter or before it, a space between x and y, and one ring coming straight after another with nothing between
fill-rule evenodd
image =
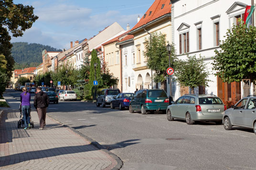
<instances>
[{"instance_id":1,"label":"grey asphalt road running past the row of parked cars","mask_svg":"<svg viewBox=\"0 0 256 170\"><path fill-rule=\"evenodd\" d=\"M213 122L187 125L170 122L165 114L141 115L80 101L51 104L48 115L115 153L124 162L122 170L256 169L253 130L227 131Z\"/></svg>"}]
</instances>

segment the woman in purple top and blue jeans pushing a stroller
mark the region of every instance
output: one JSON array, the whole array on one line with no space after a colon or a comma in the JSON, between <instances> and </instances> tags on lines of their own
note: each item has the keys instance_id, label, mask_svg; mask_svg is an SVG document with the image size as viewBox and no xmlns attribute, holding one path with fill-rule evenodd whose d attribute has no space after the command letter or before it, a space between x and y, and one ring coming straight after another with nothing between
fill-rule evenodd
<instances>
[{"instance_id":1,"label":"woman in purple top and blue jeans pushing a stroller","mask_svg":"<svg viewBox=\"0 0 256 170\"><path fill-rule=\"evenodd\" d=\"M29 117L29 110L30 110L30 93L27 92L27 88L22 88L23 93L21 93L21 110L23 114L23 120L24 120L24 129L30 129L30 117ZM27 124L28 122L28 124Z\"/></svg>"}]
</instances>

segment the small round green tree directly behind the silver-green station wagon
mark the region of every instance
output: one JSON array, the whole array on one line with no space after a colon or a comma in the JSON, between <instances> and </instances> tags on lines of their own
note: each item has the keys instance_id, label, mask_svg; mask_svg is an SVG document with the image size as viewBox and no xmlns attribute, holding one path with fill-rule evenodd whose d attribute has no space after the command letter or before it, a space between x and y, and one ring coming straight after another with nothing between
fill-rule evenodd
<instances>
[{"instance_id":1,"label":"small round green tree directly behind the silver-green station wagon","mask_svg":"<svg viewBox=\"0 0 256 170\"><path fill-rule=\"evenodd\" d=\"M207 77L209 72L206 70L206 64L203 62L203 57L198 59L196 56L187 56L187 60L177 60L174 66L175 81L179 82L181 86L188 86L194 94L194 88L201 86L208 86Z\"/></svg>"}]
</instances>

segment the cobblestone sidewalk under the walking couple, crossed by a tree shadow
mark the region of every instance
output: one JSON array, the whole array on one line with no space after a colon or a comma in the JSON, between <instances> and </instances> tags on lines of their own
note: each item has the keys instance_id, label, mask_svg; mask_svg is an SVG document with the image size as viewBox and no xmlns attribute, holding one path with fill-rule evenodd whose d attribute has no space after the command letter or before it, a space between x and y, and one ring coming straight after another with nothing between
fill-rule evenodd
<instances>
[{"instance_id":1,"label":"cobblestone sidewalk under the walking couple, crossed by a tree shadow","mask_svg":"<svg viewBox=\"0 0 256 170\"><path fill-rule=\"evenodd\" d=\"M13 109L13 108L12 108ZM0 117L0 170L110 170L117 161L85 138L46 117L39 130L38 116L31 112L34 128L17 128L20 112L5 110Z\"/></svg>"}]
</instances>

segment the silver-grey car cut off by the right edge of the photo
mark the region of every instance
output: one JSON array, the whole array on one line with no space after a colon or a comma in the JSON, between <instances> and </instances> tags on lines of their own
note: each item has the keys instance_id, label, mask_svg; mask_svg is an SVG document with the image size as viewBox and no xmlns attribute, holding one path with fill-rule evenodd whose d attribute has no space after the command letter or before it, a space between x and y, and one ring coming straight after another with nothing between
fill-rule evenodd
<instances>
[{"instance_id":1,"label":"silver-grey car cut off by the right edge of the photo","mask_svg":"<svg viewBox=\"0 0 256 170\"><path fill-rule=\"evenodd\" d=\"M223 125L225 130L232 130L232 126L251 128L256 134L256 96L247 96L226 110Z\"/></svg>"}]
</instances>

